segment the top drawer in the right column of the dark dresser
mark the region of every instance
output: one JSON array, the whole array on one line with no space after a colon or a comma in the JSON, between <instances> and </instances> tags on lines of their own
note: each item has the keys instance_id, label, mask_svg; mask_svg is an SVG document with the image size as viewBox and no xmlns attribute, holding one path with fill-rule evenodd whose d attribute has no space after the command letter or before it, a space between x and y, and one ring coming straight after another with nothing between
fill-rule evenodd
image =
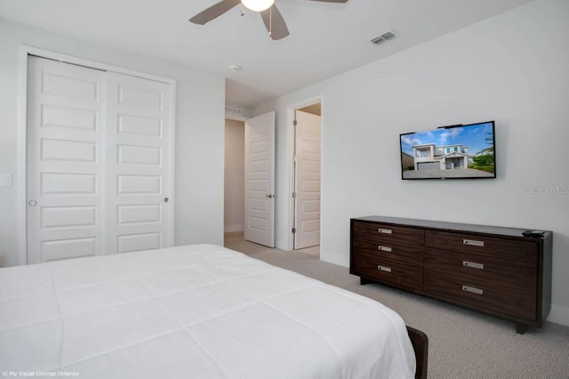
<instances>
[{"instance_id":1,"label":"top drawer in the right column of the dark dresser","mask_svg":"<svg viewBox=\"0 0 569 379\"><path fill-rule=\"evenodd\" d=\"M537 263L537 243L527 240L426 230L425 246L518 262Z\"/></svg>"}]
</instances>

